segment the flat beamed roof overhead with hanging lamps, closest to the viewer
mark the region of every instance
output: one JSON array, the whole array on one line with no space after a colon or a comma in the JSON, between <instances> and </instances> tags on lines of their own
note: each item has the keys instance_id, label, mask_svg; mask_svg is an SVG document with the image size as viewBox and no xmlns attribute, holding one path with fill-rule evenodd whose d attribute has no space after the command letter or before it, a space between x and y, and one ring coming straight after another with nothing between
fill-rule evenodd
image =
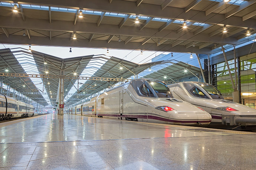
<instances>
[{"instance_id":1,"label":"flat beamed roof overhead with hanging lamps, closest to the viewer","mask_svg":"<svg viewBox=\"0 0 256 170\"><path fill-rule=\"evenodd\" d=\"M0 11L7 44L212 54L253 40L246 31L256 29L255 0L8 0Z\"/></svg>"}]
</instances>

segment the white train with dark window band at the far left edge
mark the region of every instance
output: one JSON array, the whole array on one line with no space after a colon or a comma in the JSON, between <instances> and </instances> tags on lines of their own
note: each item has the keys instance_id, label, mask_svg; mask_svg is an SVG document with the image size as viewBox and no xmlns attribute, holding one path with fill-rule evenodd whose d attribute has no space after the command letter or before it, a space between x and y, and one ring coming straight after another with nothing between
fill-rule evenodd
<instances>
[{"instance_id":1,"label":"white train with dark window band at the far left edge","mask_svg":"<svg viewBox=\"0 0 256 170\"><path fill-rule=\"evenodd\" d=\"M34 116L34 106L0 94L0 120Z\"/></svg>"}]
</instances>

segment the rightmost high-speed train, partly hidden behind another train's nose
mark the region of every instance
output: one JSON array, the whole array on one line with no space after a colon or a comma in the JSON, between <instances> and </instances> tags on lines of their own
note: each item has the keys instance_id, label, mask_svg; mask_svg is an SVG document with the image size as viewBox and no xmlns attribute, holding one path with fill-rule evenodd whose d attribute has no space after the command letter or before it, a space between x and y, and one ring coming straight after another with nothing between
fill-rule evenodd
<instances>
[{"instance_id":1,"label":"rightmost high-speed train, partly hidden behind another train's nose","mask_svg":"<svg viewBox=\"0 0 256 170\"><path fill-rule=\"evenodd\" d=\"M223 98L213 86L203 82L168 85L174 98L198 106L211 114L212 122L229 126L256 125L256 110Z\"/></svg>"}]
</instances>

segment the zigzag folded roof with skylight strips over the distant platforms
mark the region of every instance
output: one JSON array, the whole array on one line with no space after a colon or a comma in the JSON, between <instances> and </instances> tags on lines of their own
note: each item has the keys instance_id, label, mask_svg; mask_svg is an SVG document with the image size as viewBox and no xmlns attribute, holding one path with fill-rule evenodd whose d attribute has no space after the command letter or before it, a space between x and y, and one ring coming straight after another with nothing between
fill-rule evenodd
<instances>
[{"instance_id":1,"label":"zigzag folded roof with skylight strips over the distant platforms","mask_svg":"<svg viewBox=\"0 0 256 170\"><path fill-rule=\"evenodd\" d=\"M33 50L6 48L0 50L0 72L1 81L15 89L16 94L20 92L42 105L54 106L60 78L64 78L65 103L72 105L119 81L134 79L134 75L173 81L179 76L196 75L200 69L175 60L137 64L103 54L62 59Z\"/></svg>"}]
</instances>

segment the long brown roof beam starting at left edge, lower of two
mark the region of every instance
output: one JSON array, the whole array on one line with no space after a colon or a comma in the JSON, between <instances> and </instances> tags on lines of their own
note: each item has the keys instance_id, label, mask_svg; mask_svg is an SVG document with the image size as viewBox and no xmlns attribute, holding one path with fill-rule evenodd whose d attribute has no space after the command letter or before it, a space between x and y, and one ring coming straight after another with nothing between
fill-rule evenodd
<instances>
[{"instance_id":1,"label":"long brown roof beam starting at left edge, lower of two","mask_svg":"<svg viewBox=\"0 0 256 170\"><path fill-rule=\"evenodd\" d=\"M113 1L112 3L114 3ZM103 34L103 35L121 35L131 37L152 37L165 38L168 40L181 40L181 41L200 41L205 43L221 43L221 44L236 44L237 39L229 37L227 40L223 40L221 36L214 36L209 38L208 34L194 35L192 32L187 32L184 35L176 34L174 31L163 30L158 32L156 28L144 28L140 30L138 27L123 26L119 29L115 25L101 24L101 27L97 27L94 23L78 22L74 27L72 21L54 21L49 23L47 20L26 18L26 21L20 20L18 17L0 16L0 27L3 28L17 28L17 29L30 29L30 30L42 30L42 31L58 31L58 32L76 32L76 33L88 33L88 34Z\"/></svg>"}]
</instances>

